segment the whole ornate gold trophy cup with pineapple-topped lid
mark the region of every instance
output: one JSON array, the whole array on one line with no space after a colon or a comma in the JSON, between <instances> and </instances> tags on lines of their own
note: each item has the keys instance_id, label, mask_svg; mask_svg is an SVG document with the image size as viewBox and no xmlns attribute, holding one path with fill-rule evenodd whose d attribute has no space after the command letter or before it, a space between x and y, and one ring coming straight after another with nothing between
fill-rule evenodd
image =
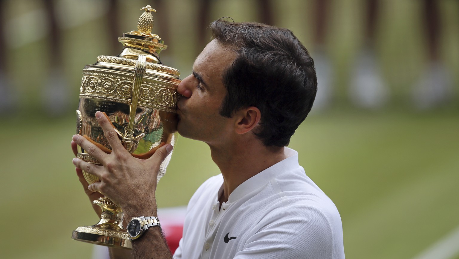
<instances>
[{"instance_id":1,"label":"whole ornate gold trophy cup with pineapple-topped lid","mask_svg":"<svg viewBox=\"0 0 459 259\"><path fill-rule=\"evenodd\" d=\"M106 153L110 144L95 119L95 112L105 112L126 150L134 157L147 159L164 143L177 139L177 86L180 72L161 63L159 52L164 41L152 34L151 6L140 10L137 30L118 40L123 52L116 57L99 56L97 63L86 65L80 86L77 110L77 134L96 144ZM172 153L161 164L158 178L166 173ZM78 146L78 158L100 163ZM89 184L99 178L83 171ZM123 227L123 211L106 197L93 203L102 209L101 220L92 226L78 227L72 238L110 247L132 248Z\"/></svg>"}]
</instances>

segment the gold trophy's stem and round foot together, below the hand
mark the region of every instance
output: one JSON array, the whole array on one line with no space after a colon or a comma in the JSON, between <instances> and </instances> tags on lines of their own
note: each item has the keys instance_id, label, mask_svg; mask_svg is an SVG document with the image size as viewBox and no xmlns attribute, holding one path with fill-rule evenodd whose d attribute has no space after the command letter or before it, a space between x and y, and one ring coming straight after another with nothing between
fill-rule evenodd
<instances>
[{"instance_id":1,"label":"gold trophy's stem and round foot together, below the hand","mask_svg":"<svg viewBox=\"0 0 459 259\"><path fill-rule=\"evenodd\" d=\"M113 201L101 197L95 201L102 209L101 220L92 226L78 227L72 238L97 245L131 249L131 241L123 227L123 210Z\"/></svg>"}]
</instances>

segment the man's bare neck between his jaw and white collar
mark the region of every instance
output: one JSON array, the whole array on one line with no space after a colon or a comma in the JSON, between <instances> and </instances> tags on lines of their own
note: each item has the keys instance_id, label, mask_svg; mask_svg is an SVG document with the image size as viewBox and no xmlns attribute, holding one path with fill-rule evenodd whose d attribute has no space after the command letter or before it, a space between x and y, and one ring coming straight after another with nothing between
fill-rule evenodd
<instances>
[{"instance_id":1,"label":"man's bare neck between his jaw and white collar","mask_svg":"<svg viewBox=\"0 0 459 259\"><path fill-rule=\"evenodd\" d=\"M224 192L219 196L220 204L237 186L247 179L284 160L284 148L268 148L261 141L231 143L225 146L210 146L212 160L223 175Z\"/></svg>"}]
</instances>

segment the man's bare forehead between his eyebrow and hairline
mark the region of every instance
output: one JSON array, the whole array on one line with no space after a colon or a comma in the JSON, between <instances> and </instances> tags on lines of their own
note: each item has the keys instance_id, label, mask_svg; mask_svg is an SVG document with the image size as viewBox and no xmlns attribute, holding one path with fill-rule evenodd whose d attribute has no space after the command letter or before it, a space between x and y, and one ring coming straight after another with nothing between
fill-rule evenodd
<instances>
[{"instance_id":1,"label":"man's bare forehead between his eyebrow and hairline","mask_svg":"<svg viewBox=\"0 0 459 259\"><path fill-rule=\"evenodd\" d=\"M226 67L233 63L236 53L226 49L217 40L212 40L196 58L193 70L207 79L216 79L222 76Z\"/></svg>"}]
</instances>

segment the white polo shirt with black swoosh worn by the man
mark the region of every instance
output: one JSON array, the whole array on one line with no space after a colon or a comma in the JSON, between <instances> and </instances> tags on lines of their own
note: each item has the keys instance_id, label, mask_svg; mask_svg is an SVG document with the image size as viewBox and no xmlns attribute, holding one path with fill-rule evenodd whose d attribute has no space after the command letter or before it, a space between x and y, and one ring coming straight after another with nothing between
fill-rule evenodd
<instances>
[{"instance_id":1,"label":"white polo shirt with black swoosh worn by the man","mask_svg":"<svg viewBox=\"0 0 459 259\"><path fill-rule=\"evenodd\" d=\"M222 175L191 197L177 259L344 259L335 204L308 178L298 153L239 185L218 207Z\"/></svg>"}]
</instances>

